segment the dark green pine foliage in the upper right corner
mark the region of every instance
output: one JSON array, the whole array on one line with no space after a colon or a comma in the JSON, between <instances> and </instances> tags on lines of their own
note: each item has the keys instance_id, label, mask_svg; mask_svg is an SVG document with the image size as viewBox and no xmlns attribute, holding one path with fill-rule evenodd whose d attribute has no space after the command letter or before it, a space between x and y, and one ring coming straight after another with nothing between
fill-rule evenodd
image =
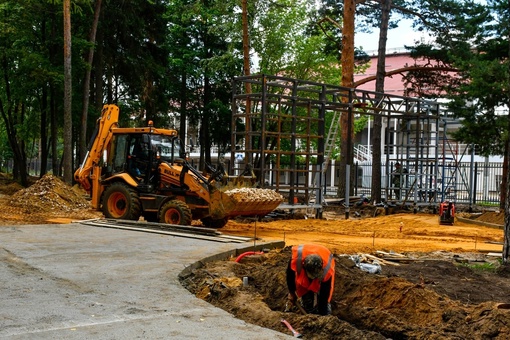
<instances>
[{"instance_id":1,"label":"dark green pine foliage in the upper right corner","mask_svg":"<svg viewBox=\"0 0 510 340\"><path fill-rule=\"evenodd\" d=\"M407 79L416 88L434 89L428 95L446 94L449 110L463 119L456 140L476 144L486 156L503 154L510 107L508 2L425 1L413 8L426 11L416 25L432 32L435 41L415 46L412 55L456 72L415 72Z\"/></svg>"}]
</instances>

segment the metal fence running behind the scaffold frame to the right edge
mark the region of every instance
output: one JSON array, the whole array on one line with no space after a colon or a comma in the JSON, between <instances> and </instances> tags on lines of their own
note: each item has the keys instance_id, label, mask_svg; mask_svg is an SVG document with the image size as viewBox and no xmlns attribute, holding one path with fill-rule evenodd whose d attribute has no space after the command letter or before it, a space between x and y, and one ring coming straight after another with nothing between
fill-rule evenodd
<instances>
[{"instance_id":1,"label":"metal fence running behind the scaffold frame to the right edge","mask_svg":"<svg viewBox=\"0 0 510 340\"><path fill-rule=\"evenodd\" d=\"M500 202L501 183L503 179L503 163L489 162L458 162L442 163L431 167L428 172L420 171L417 175L410 169L402 175L401 187L392 183L392 174L387 170L392 164L382 164L381 197L383 201L403 202L414 205L434 205L443 201L451 201L467 205L498 206ZM297 188L296 195L304 195L307 199L314 196L310 192L314 183L307 172L316 172L317 165L296 164L298 176L280 176L276 185L276 176L272 176L273 165L269 165L265 186L272 188ZM290 167L280 164L281 167ZM282 169L280 169L282 170ZM372 163L355 163L353 171L354 196L370 198L372 189ZM424 175L425 173L425 175ZM326 198L337 198L339 165L331 162L326 171L322 192ZM421 176L421 177L420 177ZM291 181L294 181L291 183ZM301 190L299 188L302 188ZM400 190L400 197L395 197L395 190ZM285 192L282 192L283 194ZM379 202L376 202L379 203Z\"/></svg>"}]
</instances>

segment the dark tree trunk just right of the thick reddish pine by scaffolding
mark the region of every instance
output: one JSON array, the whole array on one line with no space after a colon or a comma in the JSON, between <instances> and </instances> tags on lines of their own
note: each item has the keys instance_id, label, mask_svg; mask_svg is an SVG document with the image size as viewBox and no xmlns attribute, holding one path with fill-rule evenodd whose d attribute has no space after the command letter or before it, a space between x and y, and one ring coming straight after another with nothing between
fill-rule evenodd
<instances>
[{"instance_id":1,"label":"dark tree trunk just right of the thick reddish pine by scaffolding","mask_svg":"<svg viewBox=\"0 0 510 340\"><path fill-rule=\"evenodd\" d=\"M386 77L386 41L388 40L388 22L390 20L391 0L384 0L381 6L381 26L379 29L379 50L377 53L377 74L375 78L376 92L384 92L384 79ZM382 98L377 98L378 101ZM381 202L381 135L382 115L374 116L372 129L372 190L371 201Z\"/></svg>"}]
</instances>

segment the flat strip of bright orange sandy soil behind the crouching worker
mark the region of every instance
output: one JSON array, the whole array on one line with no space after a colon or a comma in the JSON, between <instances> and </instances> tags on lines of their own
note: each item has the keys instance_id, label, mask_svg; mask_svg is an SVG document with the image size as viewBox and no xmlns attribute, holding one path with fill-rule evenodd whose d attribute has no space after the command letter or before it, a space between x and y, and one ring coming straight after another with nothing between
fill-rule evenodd
<instances>
[{"instance_id":1,"label":"flat strip of bright orange sandy soil behind the crouching worker","mask_svg":"<svg viewBox=\"0 0 510 340\"><path fill-rule=\"evenodd\" d=\"M477 220L502 215L486 212ZM230 221L222 232L251 235L263 240L285 240L287 245L314 242L338 254L374 250L406 252L501 251L503 231L457 220L453 226L440 225L439 217L426 213L399 213L373 218L349 218L329 212L326 219L281 220L239 223Z\"/></svg>"}]
</instances>

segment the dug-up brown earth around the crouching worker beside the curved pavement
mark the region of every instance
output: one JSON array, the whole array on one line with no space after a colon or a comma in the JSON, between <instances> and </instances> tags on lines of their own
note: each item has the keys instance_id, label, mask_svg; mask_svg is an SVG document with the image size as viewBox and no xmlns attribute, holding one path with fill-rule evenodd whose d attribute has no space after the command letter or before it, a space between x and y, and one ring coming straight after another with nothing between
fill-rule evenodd
<instances>
[{"instance_id":1,"label":"dug-up brown earth around the crouching worker beside the curved pavement","mask_svg":"<svg viewBox=\"0 0 510 340\"><path fill-rule=\"evenodd\" d=\"M210 263L182 282L197 297L247 322L290 334L280 322L286 319L306 339L510 337L506 274L430 259L369 274L349 256L337 255L332 315L301 315L285 312L289 258L287 247L241 263Z\"/></svg>"}]
</instances>

